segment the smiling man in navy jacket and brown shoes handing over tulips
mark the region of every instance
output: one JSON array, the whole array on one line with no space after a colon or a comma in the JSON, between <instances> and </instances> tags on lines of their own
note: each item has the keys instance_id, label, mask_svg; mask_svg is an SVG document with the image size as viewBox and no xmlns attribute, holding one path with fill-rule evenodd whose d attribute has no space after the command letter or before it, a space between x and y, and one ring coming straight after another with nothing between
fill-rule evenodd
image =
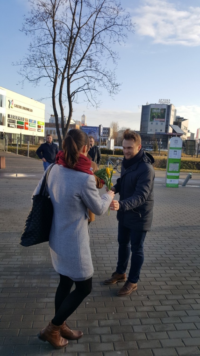
<instances>
[{"instance_id":1,"label":"smiling man in navy jacket and brown shoes handing over tulips","mask_svg":"<svg viewBox=\"0 0 200 356\"><path fill-rule=\"evenodd\" d=\"M116 271L105 284L126 281L126 268L131 252L128 280L117 295L129 295L137 289L140 270L144 262L144 240L151 229L153 218L153 184L155 173L153 157L142 151L141 137L134 131L123 134L124 159L121 177L111 189L119 193L119 201L113 200L111 210L117 210L118 263Z\"/></svg>"}]
</instances>

